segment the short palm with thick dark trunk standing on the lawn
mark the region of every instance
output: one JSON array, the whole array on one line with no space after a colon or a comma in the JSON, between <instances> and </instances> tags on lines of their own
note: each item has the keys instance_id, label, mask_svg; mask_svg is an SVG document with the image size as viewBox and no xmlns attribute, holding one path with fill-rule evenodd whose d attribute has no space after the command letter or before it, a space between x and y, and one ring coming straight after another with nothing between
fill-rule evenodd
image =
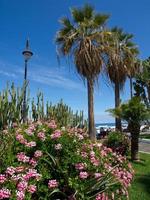
<instances>
[{"instance_id":1,"label":"short palm with thick dark trunk standing on the lawn","mask_svg":"<svg viewBox=\"0 0 150 200\"><path fill-rule=\"evenodd\" d=\"M121 104L116 109L108 110L114 116L128 122L131 133L131 159L138 160L140 126L144 120L150 118L150 113L140 97L133 97L127 103Z\"/></svg>"}]
</instances>

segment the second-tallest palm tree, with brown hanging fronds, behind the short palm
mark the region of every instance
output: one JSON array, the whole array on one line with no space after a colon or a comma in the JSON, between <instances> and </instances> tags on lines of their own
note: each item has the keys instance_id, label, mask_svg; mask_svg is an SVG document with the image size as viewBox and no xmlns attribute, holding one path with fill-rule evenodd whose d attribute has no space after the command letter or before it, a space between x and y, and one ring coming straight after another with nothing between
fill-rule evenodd
<instances>
[{"instance_id":1,"label":"second-tallest palm tree, with brown hanging fronds, behind the short palm","mask_svg":"<svg viewBox=\"0 0 150 200\"><path fill-rule=\"evenodd\" d=\"M114 86L115 108L120 105L120 91L126 78L135 66L137 47L132 42L133 35L124 33L120 28L113 28L108 44L107 76ZM115 119L116 129L121 131L121 119Z\"/></svg>"}]
</instances>

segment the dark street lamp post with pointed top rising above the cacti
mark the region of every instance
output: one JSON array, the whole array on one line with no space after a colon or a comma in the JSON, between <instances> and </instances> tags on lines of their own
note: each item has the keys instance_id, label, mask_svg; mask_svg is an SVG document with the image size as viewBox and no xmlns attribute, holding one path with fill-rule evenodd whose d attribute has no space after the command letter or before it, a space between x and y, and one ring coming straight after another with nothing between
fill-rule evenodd
<instances>
[{"instance_id":1,"label":"dark street lamp post with pointed top rising above the cacti","mask_svg":"<svg viewBox=\"0 0 150 200\"><path fill-rule=\"evenodd\" d=\"M28 60L33 55L32 51L29 48L29 40L26 41L26 48L22 52L25 60L25 69L24 69L24 98L23 98L23 122L25 123L27 121L27 112L26 112L26 88L27 88L27 63Z\"/></svg>"}]
</instances>

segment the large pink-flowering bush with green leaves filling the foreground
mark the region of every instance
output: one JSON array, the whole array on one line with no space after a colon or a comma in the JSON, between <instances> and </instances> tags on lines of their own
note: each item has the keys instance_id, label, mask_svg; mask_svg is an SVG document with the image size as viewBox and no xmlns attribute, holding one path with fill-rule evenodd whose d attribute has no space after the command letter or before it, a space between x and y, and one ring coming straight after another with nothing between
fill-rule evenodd
<instances>
[{"instance_id":1,"label":"large pink-flowering bush with green leaves filling the foreground","mask_svg":"<svg viewBox=\"0 0 150 200\"><path fill-rule=\"evenodd\" d=\"M128 199L130 163L82 129L36 122L16 127L14 135L14 159L0 169L0 199Z\"/></svg>"}]
</instances>

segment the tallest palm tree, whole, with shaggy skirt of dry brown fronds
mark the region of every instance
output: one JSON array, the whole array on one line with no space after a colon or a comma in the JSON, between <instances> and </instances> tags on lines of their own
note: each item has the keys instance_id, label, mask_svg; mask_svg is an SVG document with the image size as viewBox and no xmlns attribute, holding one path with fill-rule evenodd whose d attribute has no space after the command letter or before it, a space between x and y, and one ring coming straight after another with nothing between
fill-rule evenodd
<instances>
[{"instance_id":1,"label":"tallest palm tree, whole, with shaggy skirt of dry brown fronds","mask_svg":"<svg viewBox=\"0 0 150 200\"><path fill-rule=\"evenodd\" d=\"M71 9L72 21L67 17L60 20L62 28L56 35L59 55L73 56L78 74L87 82L88 90L88 128L95 140L94 124L94 83L103 65L102 38L105 23L109 16L95 13L90 5Z\"/></svg>"}]
</instances>

